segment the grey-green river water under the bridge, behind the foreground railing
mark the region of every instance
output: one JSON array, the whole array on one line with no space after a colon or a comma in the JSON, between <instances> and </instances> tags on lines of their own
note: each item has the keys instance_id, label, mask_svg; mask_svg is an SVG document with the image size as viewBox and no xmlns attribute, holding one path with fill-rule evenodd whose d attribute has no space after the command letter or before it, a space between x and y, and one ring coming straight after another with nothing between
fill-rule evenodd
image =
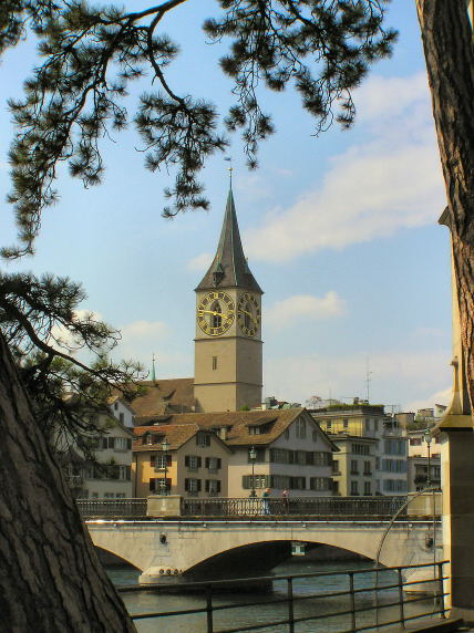
<instances>
[{"instance_id":1,"label":"grey-green river water under the bridge, behind the foreground railing","mask_svg":"<svg viewBox=\"0 0 474 633\"><path fill-rule=\"evenodd\" d=\"M348 569L367 570L371 569L371 561L306 561L305 558L288 559L282 564L274 568L275 575L278 574L298 574L298 573L316 573L316 572L340 572ZM116 585L135 584L140 572L130 568L110 568L109 574ZM379 574L377 580L379 587L395 584L396 575L394 572L383 572ZM364 589L375 584L375 573L363 573L356 575L356 588ZM316 614L340 613L350 610L350 602L347 595L324 596L329 592L347 591L349 589L349 579L347 575L324 575L323 578L306 578L295 581L293 595L309 596L318 594L319 598L308 598L302 601L295 602L295 615L308 616ZM245 608L235 608L228 611L216 611L214 613L215 631L245 626L246 624L257 624L259 622L268 623L276 620L285 620L288 615L287 604L270 604L268 601L275 598L286 596L286 583L284 581L274 581L271 592L249 592L249 593L230 593L218 594L213 599L215 605L218 604L237 604L246 603ZM123 593L122 598L131 614L148 613L157 611L175 611L183 609L198 609L205 606L204 598L196 593L187 594L157 594L150 591L137 593ZM406 594L405 599L410 600ZM399 600L398 589L389 589L379 592L379 604L388 604ZM267 604L251 605L254 602L267 601ZM367 591L357 594L357 609L371 609L374 604L374 592ZM414 615L420 613L430 613L434 611L435 605L433 599L425 599L418 602L409 602L404 605L405 615ZM400 613L399 606L388 606L379 611L379 623L395 620ZM437 619L439 615L433 615ZM377 616L373 610L368 610L357 615L358 626L367 625L377 627ZM136 629L140 633L206 633L206 614L188 614L179 616L167 616L153 620L135 621ZM285 633L288 625L276 625L258 629L258 631L267 631L269 633ZM332 618L323 618L310 622L299 622L296 624L297 633L328 633L342 632L350 630L350 616L338 615Z\"/></svg>"}]
</instances>

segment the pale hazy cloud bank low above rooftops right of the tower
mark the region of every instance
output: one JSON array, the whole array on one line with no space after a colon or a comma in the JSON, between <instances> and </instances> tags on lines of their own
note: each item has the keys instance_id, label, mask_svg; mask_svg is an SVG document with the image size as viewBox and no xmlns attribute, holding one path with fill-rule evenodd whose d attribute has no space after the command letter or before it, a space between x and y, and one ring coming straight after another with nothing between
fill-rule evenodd
<instances>
[{"instance_id":1,"label":"pale hazy cloud bank low above rooftops right of the tower","mask_svg":"<svg viewBox=\"0 0 474 633\"><path fill-rule=\"evenodd\" d=\"M400 405L413 411L413 403L443 404L450 383L450 350L396 350L370 354L370 401ZM305 404L311 395L322 398L367 396L364 354L346 356L303 354L267 357L264 395ZM446 399L444 399L444 403ZM418 407L420 408L420 407Z\"/></svg>"}]
</instances>

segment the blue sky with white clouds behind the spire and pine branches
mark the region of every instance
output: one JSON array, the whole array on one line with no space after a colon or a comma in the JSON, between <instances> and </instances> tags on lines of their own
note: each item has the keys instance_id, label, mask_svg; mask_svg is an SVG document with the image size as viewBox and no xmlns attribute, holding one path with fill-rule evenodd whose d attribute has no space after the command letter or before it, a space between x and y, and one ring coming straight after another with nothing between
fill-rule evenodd
<instances>
[{"instance_id":1,"label":"blue sky with white clouds behind the spire and pine branches","mask_svg":"<svg viewBox=\"0 0 474 633\"><path fill-rule=\"evenodd\" d=\"M146 6L125 3L131 9ZM230 84L199 25L216 3L184 4L166 29L183 53L169 69L175 91L231 102ZM451 295L445 206L414 2L394 0L400 30L391 60L356 93L354 127L311 135L291 92L264 95L277 134L248 172L233 138L234 196L250 268L264 295L264 394L302 402L367 396L414 409L446 403L451 386ZM19 95L32 49L0 66L0 188L8 191L7 97ZM136 93L146 90L136 86ZM134 94L132 94L132 100ZM193 289L206 270L223 220L228 163L213 158L202 179L209 212L164 220L165 173L151 174L130 129L104 139L104 184L84 189L64 173L60 203L43 218L37 255L9 270L52 271L82 281L83 309L122 330L115 355L151 365L158 377L194 369ZM2 243L16 235L0 207Z\"/></svg>"}]
</instances>

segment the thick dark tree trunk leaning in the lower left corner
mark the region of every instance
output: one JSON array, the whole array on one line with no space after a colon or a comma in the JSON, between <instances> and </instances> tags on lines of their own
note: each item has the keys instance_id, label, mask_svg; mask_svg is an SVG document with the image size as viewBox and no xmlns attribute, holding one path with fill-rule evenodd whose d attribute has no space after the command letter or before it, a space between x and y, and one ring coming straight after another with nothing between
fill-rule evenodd
<instances>
[{"instance_id":1,"label":"thick dark tree trunk leaning in the lower left corner","mask_svg":"<svg viewBox=\"0 0 474 633\"><path fill-rule=\"evenodd\" d=\"M0 618L8 633L133 632L0 334Z\"/></svg>"}]
</instances>

